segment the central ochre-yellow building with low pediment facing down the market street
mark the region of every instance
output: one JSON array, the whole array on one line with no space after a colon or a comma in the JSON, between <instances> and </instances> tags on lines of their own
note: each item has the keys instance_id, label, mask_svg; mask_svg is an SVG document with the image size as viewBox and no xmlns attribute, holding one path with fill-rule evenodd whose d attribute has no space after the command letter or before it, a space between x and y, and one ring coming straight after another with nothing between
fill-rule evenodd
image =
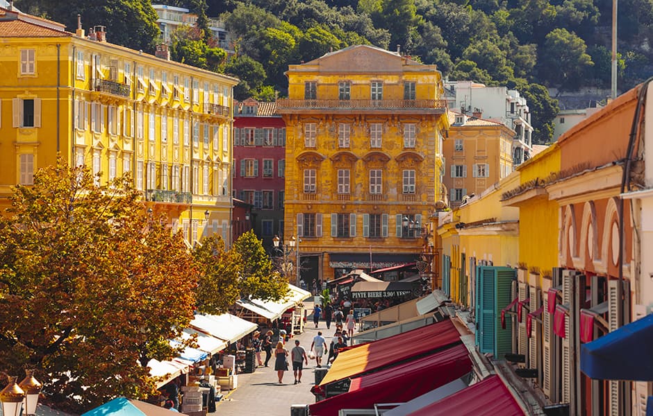
<instances>
[{"instance_id":1,"label":"central ochre-yellow building with low pediment facing down the market street","mask_svg":"<svg viewBox=\"0 0 653 416\"><path fill-rule=\"evenodd\" d=\"M302 277L415 261L422 218L442 196L443 82L435 65L350 46L290 65L286 238Z\"/></svg>"}]
</instances>

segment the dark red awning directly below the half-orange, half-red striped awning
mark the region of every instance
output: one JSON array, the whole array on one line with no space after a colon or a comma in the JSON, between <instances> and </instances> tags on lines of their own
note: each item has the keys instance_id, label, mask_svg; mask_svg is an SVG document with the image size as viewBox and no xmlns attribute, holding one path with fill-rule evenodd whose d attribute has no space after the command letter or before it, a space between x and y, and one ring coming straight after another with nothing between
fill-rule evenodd
<instances>
[{"instance_id":1,"label":"dark red awning directly below the half-orange, half-red striped awning","mask_svg":"<svg viewBox=\"0 0 653 416\"><path fill-rule=\"evenodd\" d=\"M338 416L340 409L372 408L376 403L408 401L470 371L472 361L467 348L454 345L444 351L352 379L349 392L308 407L311 416Z\"/></svg>"}]
</instances>

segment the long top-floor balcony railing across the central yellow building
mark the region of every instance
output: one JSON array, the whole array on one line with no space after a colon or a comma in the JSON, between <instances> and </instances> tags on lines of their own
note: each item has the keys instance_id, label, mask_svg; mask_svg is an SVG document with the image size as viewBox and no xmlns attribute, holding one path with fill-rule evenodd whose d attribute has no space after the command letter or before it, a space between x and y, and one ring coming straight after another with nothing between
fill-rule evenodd
<instances>
[{"instance_id":1,"label":"long top-floor balcony railing across the central yellow building","mask_svg":"<svg viewBox=\"0 0 653 416\"><path fill-rule=\"evenodd\" d=\"M276 100L278 112L291 110L441 110L446 100Z\"/></svg>"}]
</instances>

